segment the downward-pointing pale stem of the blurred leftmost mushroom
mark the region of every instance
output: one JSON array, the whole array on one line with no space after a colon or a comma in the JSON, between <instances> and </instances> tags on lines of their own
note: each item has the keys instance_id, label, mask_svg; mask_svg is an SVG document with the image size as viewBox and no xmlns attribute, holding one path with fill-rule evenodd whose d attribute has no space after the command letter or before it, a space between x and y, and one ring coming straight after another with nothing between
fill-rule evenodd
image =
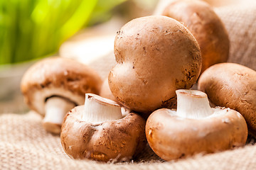
<instances>
[{"instance_id":1,"label":"downward-pointing pale stem of the blurred leftmost mushroom","mask_svg":"<svg viewBox=\"0 0 256 170\"><path fill-rule=\"evenodd\" d=\"M65 100L65 98L58 96L48 98L45 105L46 115L43 118L43 127L48 132L60 133L65 114L74 107L75 103Z\"/></svg>"}]
</instances>

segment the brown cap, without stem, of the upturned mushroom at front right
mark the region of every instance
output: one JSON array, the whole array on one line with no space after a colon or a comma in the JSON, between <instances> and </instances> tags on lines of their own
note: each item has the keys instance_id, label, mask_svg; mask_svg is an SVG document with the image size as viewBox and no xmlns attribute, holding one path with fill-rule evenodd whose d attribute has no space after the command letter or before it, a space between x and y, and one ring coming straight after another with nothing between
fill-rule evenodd
<instances>
[{"instance_id":1,"label":"brown cap, without stem, of the upturned mushroom at front right","mask_svg":"<svg viewBox=\"0 0 256 170\"><path fill-rule=\"evenodd\" d=\"M178 118L161 108L146 121L146 139L159 157L170 161L245 145L247 125L242 115L233 110L215 118L195 120Z\"/></svg>"}]
</instances>

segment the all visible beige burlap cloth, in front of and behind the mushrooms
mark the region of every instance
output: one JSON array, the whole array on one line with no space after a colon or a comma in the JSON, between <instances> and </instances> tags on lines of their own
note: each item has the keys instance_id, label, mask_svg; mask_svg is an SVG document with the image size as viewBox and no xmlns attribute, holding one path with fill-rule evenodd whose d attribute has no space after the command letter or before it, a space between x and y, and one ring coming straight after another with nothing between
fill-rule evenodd
<instances>
[{"instance_id":1,"label":"all visible beige burlap cloth, in front of and behind the mushrooms","mask_svg":"<svg viewBox=\"0 0 256 170\"><path fill-rule=\"evenodd\" d=\"M244 4L216 8L230 35L230 62L256 69L256 6ZM92 63L105 77L114 64L113 55ZM14 106L15 107L15 106ZM256 146L250 138L245 147L215 154L197 155L164 162L146 146L142 154L126 163L100 163L70 159L60 137L41 127L33 112L0 114L0 169L256 169Z\"/></svg>"}]
</instances>

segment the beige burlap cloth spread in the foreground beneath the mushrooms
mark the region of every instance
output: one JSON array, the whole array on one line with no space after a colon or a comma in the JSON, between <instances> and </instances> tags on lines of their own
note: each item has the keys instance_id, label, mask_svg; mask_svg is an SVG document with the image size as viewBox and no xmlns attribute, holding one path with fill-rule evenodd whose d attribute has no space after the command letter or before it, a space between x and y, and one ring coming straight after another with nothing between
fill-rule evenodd
<instances>
[{"instance_id":1,"label":"beige burlap cloth spread in the foreground beneath the mushrooms","mask_svg":"<svg viewBox=\"0 0 256 170\"><path fill-rule=\"evenodd\" d=\"M43 130L34 113L0 115L0 169L256 169L255 145L226 152L164 162L146 146L131 162L101 163L70 159L60 137Z\"/></svg>"}]
</instances>

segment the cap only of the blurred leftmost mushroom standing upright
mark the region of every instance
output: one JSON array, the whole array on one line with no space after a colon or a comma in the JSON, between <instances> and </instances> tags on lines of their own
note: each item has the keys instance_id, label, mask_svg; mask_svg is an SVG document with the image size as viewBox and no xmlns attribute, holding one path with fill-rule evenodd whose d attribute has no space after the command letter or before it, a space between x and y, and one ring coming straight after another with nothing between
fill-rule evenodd
<instances>
[{"instance_id":1,"label":"cap only of the blurred leftmost mushroom standing upright","mask_svg":"<svg viewBox=\"0 0 256 170\"><path fill-rule=\"evenodd\" d=\"M21 91L29 108L44 115L47 98L60 96L80 105L85 101L85 93L98 94L101 85L97 72L85 64L50 57L28 69L21 80Z\"/></svg>"}]
</instances>

